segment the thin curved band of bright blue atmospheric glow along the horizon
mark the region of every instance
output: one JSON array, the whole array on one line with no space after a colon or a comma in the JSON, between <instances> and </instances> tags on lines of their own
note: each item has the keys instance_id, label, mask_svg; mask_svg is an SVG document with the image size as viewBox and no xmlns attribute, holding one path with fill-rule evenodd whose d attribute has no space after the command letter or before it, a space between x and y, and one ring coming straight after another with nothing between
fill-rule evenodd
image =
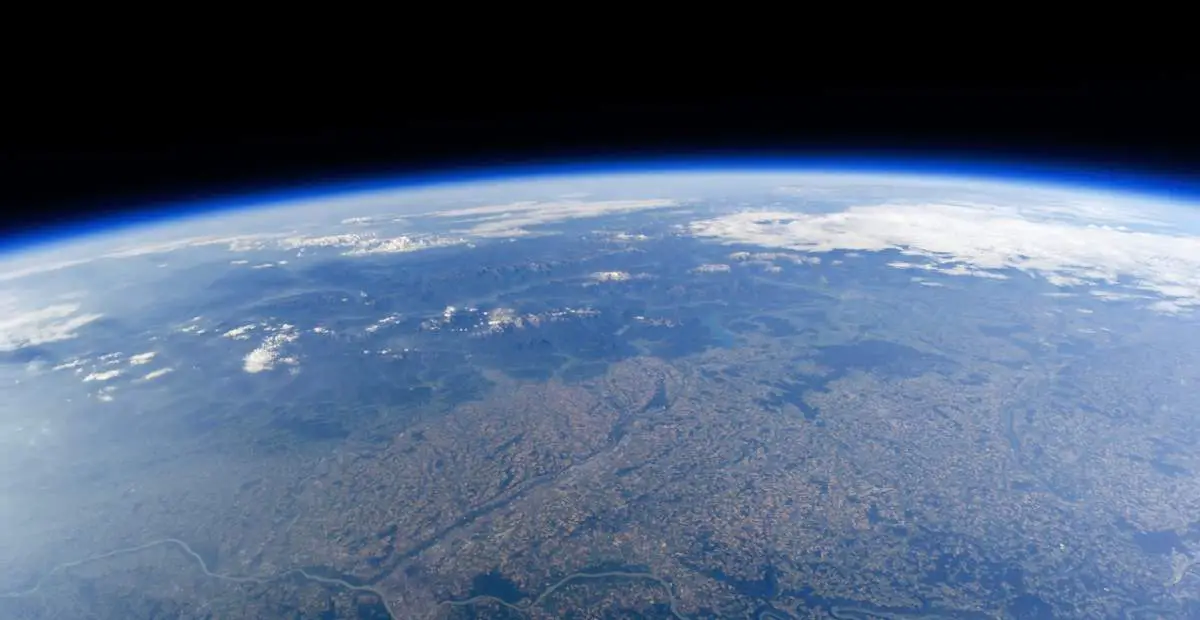
<instances>
[{"instance_id":1,"label":"thin curved band of bright blue atmospheric glow along the horizon","mask_svg":"<svg viewBox=\"0 0 1200 620\"><path fill-rule=\"evenodd\" d=\"M448 168L438 171L378 174L353 180L319 180L290 187L173 204L125 205L121 215L60 224L52 230L17 234L0 241L0 254L13 254L50 242L98 236L118 229L214 216L266 204L382 189L427 188L478 181L516 181L607 174L666 173L859 173L941 176L1038 185L1063 189L1112 191L1178 201L1200 203L1200 182L1178 174L1157 175L1127 169L1015 159L983 159L970 155L938 158L912 155L762 156L744 154L692 155L620 159L548 161ZM133 206L133 209L130 209Z\"/></svg>"}]
</instances>

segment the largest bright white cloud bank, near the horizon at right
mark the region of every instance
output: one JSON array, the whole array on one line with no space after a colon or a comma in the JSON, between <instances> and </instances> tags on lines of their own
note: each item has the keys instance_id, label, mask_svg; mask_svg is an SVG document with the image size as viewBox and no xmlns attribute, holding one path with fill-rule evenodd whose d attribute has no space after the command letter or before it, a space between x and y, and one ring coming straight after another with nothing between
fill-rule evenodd
<instances>
[{"instance_id":1,"label":"largest bright white cloud bank, near the horizon at right","mask_svg":"<svg viewBox=\"0 0 1200 620\"><path fill-rule=\"evenodd\" d=\"M1200 237L1027 217L982 204L882 204L832 213L742 212L695 222L724 242L803 252L899 249L955 276L1019 270L1058 285L1127 285L1165 297L1154 309L1200 306Z\"/></svg>"}]
</instances>

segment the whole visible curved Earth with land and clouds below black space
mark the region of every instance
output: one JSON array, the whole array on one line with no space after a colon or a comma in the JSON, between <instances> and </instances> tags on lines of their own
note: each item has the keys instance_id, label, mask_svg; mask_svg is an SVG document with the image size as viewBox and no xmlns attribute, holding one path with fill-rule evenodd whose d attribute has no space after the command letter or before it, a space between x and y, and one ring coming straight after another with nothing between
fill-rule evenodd
<instances>
[{"instance_id":1,"label":"whole visible curved Earth with land and clouds below black space","mask_svg":"<svg viewBox=\"0 0 1200 620\"><path fill-rule=\"evenodd\" d=\"M1200 618L1187 200L640 170L224 206L4 257L0 616Z\"/></svg>"}]
</instances>

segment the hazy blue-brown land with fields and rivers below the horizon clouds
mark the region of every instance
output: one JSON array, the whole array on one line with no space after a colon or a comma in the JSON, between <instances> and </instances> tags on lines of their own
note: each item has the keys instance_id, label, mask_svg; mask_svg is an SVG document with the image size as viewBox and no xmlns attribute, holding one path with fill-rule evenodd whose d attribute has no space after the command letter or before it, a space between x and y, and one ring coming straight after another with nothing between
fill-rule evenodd
<instances>
[{"instance_id":1,"label":"hazy blue-brown land with fields and rivers below the horizon clouds","mask_svg":"<svg viewBox=\"0 0 1200 620\"><path fill-rule=\"evenodd\" d=\"M12 546L0 613L1200 613L1188 319L607 223L221 275L137 332L203 371L65 404L100 447L6 482L50 542ZM247 374L241 324L325 331Z\"/></svg>"}]
</instances>

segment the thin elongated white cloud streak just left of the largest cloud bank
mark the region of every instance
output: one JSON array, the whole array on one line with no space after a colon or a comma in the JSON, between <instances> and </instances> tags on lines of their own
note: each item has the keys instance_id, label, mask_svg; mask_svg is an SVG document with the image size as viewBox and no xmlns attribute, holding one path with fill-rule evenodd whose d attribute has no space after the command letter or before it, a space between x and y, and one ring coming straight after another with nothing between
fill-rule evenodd
<instances>
[{"instance_id":1,"label":"thin elongated white cloud streak just left of the largest cloud bank","mask_svg":"<svg viewBox=\"0 0 1200 620\"><path fill-rule=\"evenodd\" d=\"M528 235L527 227L565 222L580 217L599 217L604 215L630 213L648 209L676 206L676 200L559 200L550 203L524 201L502 205L454 209L428 213L436 217L455 218L468 228L458 233L474 236L522 236Z\"/></svg>"}]
</instances>

